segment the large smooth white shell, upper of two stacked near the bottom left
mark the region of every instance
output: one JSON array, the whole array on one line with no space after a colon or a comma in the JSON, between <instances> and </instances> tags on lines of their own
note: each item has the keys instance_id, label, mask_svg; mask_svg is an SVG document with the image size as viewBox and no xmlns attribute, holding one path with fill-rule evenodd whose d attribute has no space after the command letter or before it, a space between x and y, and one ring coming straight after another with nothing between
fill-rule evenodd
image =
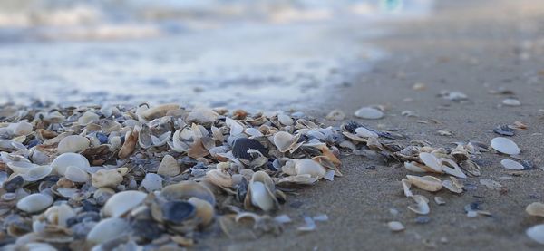
<instances>
[{"instance_id":1,"label":"large smooth white shell, upper of two stacked near the bottom left","mask_svg":"<svg viewBox=\"0 0 544 251\"><path fill-rule=\"evenodd\" d=\"M105 217L121 217L143 202L147 194L140 191L122 191L106 201L102 214Z\"/></svg>"}]
</instances>

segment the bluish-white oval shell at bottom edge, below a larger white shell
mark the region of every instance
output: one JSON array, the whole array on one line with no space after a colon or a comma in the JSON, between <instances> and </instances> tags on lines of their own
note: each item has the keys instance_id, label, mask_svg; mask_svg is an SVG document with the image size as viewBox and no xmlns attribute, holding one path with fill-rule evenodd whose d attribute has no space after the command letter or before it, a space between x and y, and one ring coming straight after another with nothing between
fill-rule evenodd
<instances>
[{"instance_id":1,"label":"bluish-white oval shell at bottom edge, below a larger white shell","mask_svg":"<svg viewBox=\"0 0 544 251\"><path fill-rule=\"evenodd\" d=\"M124 233L130 229L131 225L123 218L105 218L92 227L89 234L87 234L87 242L92 244L101 244L119 237L121 233Z\"/></svg>"}]
</instances>

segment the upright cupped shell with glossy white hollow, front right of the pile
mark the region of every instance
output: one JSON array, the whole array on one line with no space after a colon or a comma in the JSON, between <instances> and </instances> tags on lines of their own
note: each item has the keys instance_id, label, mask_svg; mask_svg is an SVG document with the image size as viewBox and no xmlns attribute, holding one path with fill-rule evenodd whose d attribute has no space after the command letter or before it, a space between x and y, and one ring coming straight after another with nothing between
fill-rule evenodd
<instances>
[{"instance_id":1,"label":"upright cupped shell with glossy white hollow, front right of the pile","mask_svg":"<svg viewBox=\"0 0 544 251\"><path fill-rule=\"evenodd\" d=\"M270 211L277 207L275 191L274 181L270 176L264 171L257 171L249 181L246 199L253 206L263 211Z\"/></svg>"}]
</instances>

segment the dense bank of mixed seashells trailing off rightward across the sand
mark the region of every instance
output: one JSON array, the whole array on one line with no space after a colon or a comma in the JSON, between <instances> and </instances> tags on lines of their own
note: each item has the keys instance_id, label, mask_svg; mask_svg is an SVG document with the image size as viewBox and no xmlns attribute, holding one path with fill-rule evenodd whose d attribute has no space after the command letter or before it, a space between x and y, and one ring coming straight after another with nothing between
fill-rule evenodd
<instances>
[{"instance_id":1,"label":"dense bank of mixed seashells trailing off rightward across the sand","mask_svg":"<svg viewBox=\"0 0 544 251\"><path fill-rule=\"evenodd\" d=\"M298 188L342 177L341 154L403 163L407 174L399 188L414 202L408 209L428 215L439 206L416 190L434 193L443 205L439 193L461 194L464 179L481 176L474 156L491 149L520 154L506 138L491 140L491 146L434 148L423 140L403 145L397 141L404 136L393 131L355 121L325 127L301 112L250 114L177 104L16 111L0 123L0 234L3 245L15 249L27 243L159 249L193 246L210 229L230 238L278 235L288 224L314 231L326 215L291 218L282 207ZM374 108L358 113L383 116ZM342 111L329 114L331 121L344 117ZM512 163L503 165L520 169ZM530 214L540 215L534 208ZM388 226L404 228L396 221Z\"/></svg>"}]
</instances>

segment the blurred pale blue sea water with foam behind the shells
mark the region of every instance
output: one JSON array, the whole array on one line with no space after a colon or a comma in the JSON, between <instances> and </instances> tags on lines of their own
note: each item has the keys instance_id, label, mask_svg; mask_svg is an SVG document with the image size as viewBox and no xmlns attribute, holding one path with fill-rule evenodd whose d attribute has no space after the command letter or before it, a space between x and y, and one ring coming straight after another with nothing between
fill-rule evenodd
<instances>
[{"instance_id":1,"label":"blurred pale blue sea water with foam behind the shells","mask_svg":"<svg viewBox=\"0 0 544 251\"><path fill-rule=\"evenodd\" d=\"M0 103L323 102L431 0L2 0Z\"/></svg>"}]
</instances>

